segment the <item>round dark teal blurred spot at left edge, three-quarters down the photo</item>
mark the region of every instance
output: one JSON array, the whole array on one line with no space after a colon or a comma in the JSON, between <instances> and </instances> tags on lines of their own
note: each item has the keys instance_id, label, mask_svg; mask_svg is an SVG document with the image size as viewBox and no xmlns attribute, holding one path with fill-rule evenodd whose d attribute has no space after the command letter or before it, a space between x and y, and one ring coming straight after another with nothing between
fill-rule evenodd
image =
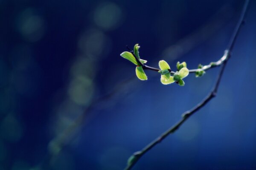
<instances>
[{"instance_id":1,"label":"round dark teal blurred spot at left edge, three-quarters down the photo","mask_svg":"<svg viewBox=\"0 0 256 170\"><path fill-rule=\"evenodd\" d=\"M0 134L9 142L17 142L23 135L23 128L14 115L8 114L0 122Z\"/></svg>"}]
</instances>

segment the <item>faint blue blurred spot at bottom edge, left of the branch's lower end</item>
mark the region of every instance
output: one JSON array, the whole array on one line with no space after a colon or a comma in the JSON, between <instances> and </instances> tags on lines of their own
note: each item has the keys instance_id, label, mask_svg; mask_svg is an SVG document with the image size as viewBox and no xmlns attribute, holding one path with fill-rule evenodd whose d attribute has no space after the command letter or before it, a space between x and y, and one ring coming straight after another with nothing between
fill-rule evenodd
<instances>
[{"instance_id":1,"label":"faint blue blurred spot at bottom edge, left of the branch's lower end","mask_svg":"<svg viewBox=\"0 0 256 170\"><path fill-rule=\"evenodd\" d=\"M100 156L101 170L122 170L131 153L123 147L110 147Z\"/></svg>"}]
</instances>

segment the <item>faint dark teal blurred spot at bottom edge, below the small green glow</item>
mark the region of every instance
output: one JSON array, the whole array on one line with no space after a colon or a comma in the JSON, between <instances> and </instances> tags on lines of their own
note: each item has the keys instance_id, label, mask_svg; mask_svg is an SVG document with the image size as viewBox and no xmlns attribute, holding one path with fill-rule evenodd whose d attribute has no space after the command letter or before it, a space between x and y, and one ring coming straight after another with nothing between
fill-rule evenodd
<instances>
[{"instance_id":1,"label":"faint dark teal blurred spot at bottom edge, below the small green glow","mask_svg":"<svg viewBox=\"0 0 256 170\"><path fill-rule=\"evenodd\" d=\"M71 155L62 152L58 156L55 156L51 160L52 170L75 170L74 159Z\"/></svg>"}]
</instances>

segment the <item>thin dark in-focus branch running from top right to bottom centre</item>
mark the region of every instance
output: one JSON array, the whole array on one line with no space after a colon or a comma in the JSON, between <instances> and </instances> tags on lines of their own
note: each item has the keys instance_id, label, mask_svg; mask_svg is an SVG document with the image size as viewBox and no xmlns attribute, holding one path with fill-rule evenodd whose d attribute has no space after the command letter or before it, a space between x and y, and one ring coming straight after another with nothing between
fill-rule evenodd
<instances>
[{"instance_id":1,"label":"thin dark in-focus branch running from top right to bottom centre","mask_svg":"<svg viewBox=\"0 0 256 170\"><path fill-rule=\"evenodd\" d=\"M182 114L182 118L180 119L179 122L177 122L174 126L170 127L168 130L166 130L166 132L164 132L162 135L160 135L157 139L155 139L154 141L152 141L150 144L148 144L146 147L144 147L142 150L135 152L130 159L128 160L128 165L127 167L125 167L125 170L130 170L135 164L136 162L151 148L153 148L156 144L160 143L163 139L165 139L169 134L174 133L185 121L186 119L188 119L190 116L192 116L193 113L197 112L198 110L200 110L202 107L204 107L204 105L206 105L213 97L216 96L217 91L218 91L218 87L219 87L219 83L221 81L221 77L223 75L224 69L227 65L227 61L228 59L230 59L231 56L231 52L233 50L234 44L236 42L236 38L239 34L240 28L242 26L242 24L244 23L244 16L246 14L247 11L247 7L249 4L250 0L246 0L244 3L244 7L243 10L241 12L241 16L240 19L237 23L237 26L234 30L233 36L230 39L230 43L227 46L227 50L224 51L224 55L223 57L221 57L220 60L217 61L217 65L214 66L207 66L204 69L209 69L211 67L216 67L221 65L221 69L219 71L218 77L216 79L215 85L213 86L212 91L210 91L210 93L200 102L198 103L194 108L192 108L189 111L186 111ZM195 69L196 70L196 69ZM195 70L192 70L193 72Z\"/></svg>"}]
</instances>

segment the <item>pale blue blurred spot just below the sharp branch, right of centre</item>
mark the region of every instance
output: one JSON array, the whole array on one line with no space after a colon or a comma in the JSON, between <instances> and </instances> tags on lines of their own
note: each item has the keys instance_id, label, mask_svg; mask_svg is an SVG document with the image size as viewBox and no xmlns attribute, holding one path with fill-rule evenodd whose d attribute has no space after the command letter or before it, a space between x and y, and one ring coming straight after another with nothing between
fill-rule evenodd
<instances>
[{"instance_id":1,"label":"pale blue blurred spot just below the sharp branch, right of centre","mask_svg":"<svg viewBox=\"0 0 256 170\"><path fill-rule=\"evenodd\" d=\"M195 119L189 119L180 129L175 133L178 139L182 141L190 141L198 136L200 127Z\"/></svg>"}]
</instances>

